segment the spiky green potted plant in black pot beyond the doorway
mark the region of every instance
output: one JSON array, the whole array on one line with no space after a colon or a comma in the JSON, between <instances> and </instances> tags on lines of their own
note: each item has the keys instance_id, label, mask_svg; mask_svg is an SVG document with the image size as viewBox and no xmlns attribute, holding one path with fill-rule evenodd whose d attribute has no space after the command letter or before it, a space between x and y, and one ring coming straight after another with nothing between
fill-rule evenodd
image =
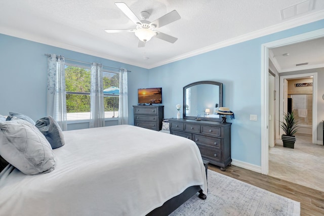
<instances>
[{"instance_id":1,"label":"spiky green potted plant in black pot beyond the doorway","mask_svg":"<svg viewBox=\"0 0 324 216\"><path fill-rule=\"evenodd\" d=\"M282 143L286 148L294 148L296 137L294 134L298 130L298 120L295 119L294 113L284 113L284 121L280 121L280 127L284 130L286 135L281 135Z\"/></svg>"}]
</instances>

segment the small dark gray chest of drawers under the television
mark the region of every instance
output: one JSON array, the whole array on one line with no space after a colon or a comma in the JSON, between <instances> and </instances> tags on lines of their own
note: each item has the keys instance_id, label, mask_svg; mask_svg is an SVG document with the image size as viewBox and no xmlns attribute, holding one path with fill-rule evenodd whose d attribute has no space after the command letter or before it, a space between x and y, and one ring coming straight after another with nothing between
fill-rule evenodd
<instances>
[{"instance_id":1,"label":"small dark gray chest of drawers under the television","mask_svg":"<svg viewBox=\"0 0 324 216\"><path fill-rule=\"evenodd\" d=\"M164 106L133 106L134 125L160 131L162 128Z\"/></svg>"}]
</instances>

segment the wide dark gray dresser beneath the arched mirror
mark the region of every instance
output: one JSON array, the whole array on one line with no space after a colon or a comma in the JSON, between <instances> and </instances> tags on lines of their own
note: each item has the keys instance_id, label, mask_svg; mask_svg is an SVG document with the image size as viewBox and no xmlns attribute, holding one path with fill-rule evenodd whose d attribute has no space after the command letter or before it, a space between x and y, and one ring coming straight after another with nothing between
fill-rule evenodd
<instances>
[{"instance_id":1,"label":"wide dark gray dresser beneath the arched mirror","mask_svg":"<svg viewBox=\"0 0 324 216\"><path fill-rule=\"evenodd\" d=\"M231 124L170 118L170 134L193 140L203 159L225 171L231 159Z\"/></svg>"}]
</instances>

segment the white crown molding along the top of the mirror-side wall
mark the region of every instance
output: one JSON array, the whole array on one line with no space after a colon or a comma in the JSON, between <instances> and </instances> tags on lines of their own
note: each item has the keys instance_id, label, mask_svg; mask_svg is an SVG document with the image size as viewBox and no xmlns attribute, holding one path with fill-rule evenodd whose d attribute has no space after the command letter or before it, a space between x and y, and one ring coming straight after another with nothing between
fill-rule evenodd
<instances>
[{"instance_id":1,"label":"white crown molding along the top of the mirror-side wall","mask_svg":"<svg viewBox=\"0 0 324 216\"><path fill-rule=\"evenodd\" d=\"M208 47L204 47L204 48L201 48L201 49L186 53L184 55L179 55L179 56L174 57L174 58L170 58L170 59L167 59L167 60L164 60L164 61L160 61L160 62L158 62L156 64L150 65L148 69L158 67L158 66L161 66L161 65L165 65L165 64L169 64L169 63L179 61L179 60L182 60L182 59L186 59L186 58L196 56L196 55L199 55L199 54L207 53L207 52L217 50L217 49L220 49L220 48L228 47L228 46L231 46L231 45L234 45L234 44L238 44L240 42L255 39L255 38L265 36L265 35L268 35L268 34L272 34L272 33L287 30L287 29L290 29L290 28L298 27L298 26L305 25L305 24L308 24L308 23L311 23L311 22L316 22L318 20L322 20L323 17L324 17L324 10L314 12L314 13L312 13L310 15L305 15L305 16L300 17L300 18L295 18L295 19L292 19L292 20L289 20L289 21L285 21L283 23L279 23L279 24L276 24L276 25L273 25L273 26L270 26L270 27L267 27L267 28L263 28L263 29L260 29L258 31L250 32L250 33L238 36L238 37L234 37L234 38L231 38L231 39L228 39L228 40L224 40L224 41L219 42L217 44L214 44L214 45L211 45L211 46L208 46Z\"/></svg>"}]
</instances>

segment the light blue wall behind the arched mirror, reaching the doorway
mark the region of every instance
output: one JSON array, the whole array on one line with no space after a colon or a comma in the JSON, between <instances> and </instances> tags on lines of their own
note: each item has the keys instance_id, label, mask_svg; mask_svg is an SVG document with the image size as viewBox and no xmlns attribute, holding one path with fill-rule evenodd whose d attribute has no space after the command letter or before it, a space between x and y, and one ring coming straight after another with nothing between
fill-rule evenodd
<instances>
[{"instance_id":1,"label":"light blue wall behind the arched mirror, reaching the doorway","mask_svg":"<svg viewBox=\"0 0 324 216\"><path fill-rule=\"evenodd\" d=\"M149 85L163 87L165 118L172 118L176 104L182 104L185 85L200 80L222 82L223 106L235 113L235 119L228 119L232 159L261 166L261 45L323 27L321 20L153 68ZM250 114L258 120L250 121Z\"/></svg>"}]
</instances>

